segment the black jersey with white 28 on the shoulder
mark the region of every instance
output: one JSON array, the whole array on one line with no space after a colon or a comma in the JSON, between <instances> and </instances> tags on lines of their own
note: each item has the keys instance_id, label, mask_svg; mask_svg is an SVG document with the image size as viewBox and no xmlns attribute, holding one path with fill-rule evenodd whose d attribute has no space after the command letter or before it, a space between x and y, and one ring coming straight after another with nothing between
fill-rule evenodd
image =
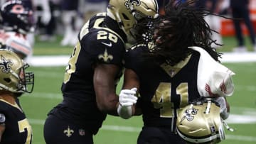
<instances>
[{"instance_id":1,"label":"black jersey with white 28 on the shoulder","mask_svg":"<svg viewBox=\"0 0 256 144\"><path fill-rule=\"evenodd\" d=\"M97 109L93 86L94 65L99 63L123 67L125 34L117 22L99 13L85 23L79 42L70 56L61 90L63 102L51 111L66 120L97 131L106 113ZM122 76L122 69L116 80Z\"/></svg>"}]
</instances>

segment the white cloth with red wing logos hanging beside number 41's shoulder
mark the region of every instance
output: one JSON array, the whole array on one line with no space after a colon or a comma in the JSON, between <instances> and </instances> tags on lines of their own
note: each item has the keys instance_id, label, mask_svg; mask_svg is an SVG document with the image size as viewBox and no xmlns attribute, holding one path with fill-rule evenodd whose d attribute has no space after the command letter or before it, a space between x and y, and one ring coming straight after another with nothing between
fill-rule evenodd
<instances>
[{"instance_id":1,"label":"white cloth with red wing logos hanging beside number 41's shoulder","mask_svg":"<svg viewBox=\"0 0 256 144\"><path fill-rule=\"evenodd\" d=\"M234 92L232 76L235 74L228 67L213 60L212 57L198 47L189 47L200 52L198 63L198 92L201 96L231 96Z\"/></svg>"}]
</instances>

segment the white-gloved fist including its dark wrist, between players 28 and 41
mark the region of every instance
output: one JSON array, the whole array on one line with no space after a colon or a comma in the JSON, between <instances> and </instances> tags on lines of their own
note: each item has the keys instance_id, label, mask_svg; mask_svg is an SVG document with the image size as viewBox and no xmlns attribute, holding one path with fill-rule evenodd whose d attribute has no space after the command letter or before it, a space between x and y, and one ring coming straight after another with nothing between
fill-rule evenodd
<instances>
[{"instance_id":1,"label":"white-gloved fist including its dark wrist, between players 28 and 41","mask_svg":"<svg viewBox=\"0 0 256 144\"><path fill-rule=\"evenodd\" d=\"M119 106L117 113L121 118L128 119L132 117L132 105L137 103L135 96L137 88L123 89L119 94Z\"/></svg>"}]
</instances>

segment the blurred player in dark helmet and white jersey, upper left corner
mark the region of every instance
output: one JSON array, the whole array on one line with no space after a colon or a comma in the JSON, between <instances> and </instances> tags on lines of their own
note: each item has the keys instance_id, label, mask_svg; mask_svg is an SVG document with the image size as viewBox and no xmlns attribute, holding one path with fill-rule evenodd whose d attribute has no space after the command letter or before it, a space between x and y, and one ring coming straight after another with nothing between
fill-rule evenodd
<instances>
[{"instance_id":1,"label":"blurred player in dark helmet and white jersey, upper left corner","mask_svg":"<svg viewBox=\"0 0 256 144\"><path fill-rule=\"evenodd\" d=\"M6 1L1 6L0 44L13 50L23 60L32 55L27 34L34 31L33 11L23 1Z\"/></svg>"}]
</instances>

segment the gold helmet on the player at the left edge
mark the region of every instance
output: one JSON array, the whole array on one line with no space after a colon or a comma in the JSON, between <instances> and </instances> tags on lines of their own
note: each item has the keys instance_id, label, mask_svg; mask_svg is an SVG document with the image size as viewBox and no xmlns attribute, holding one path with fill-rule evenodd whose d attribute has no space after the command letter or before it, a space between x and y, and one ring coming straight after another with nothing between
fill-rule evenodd
<instances>
[{"instance_id":1,"label":"gold helmet on the player at the left edge","mask_svg":"<svg viewBox=\"0 0 256 144\"><path fill-rule=\"evenodd\" d=\"M15 52L0 50L0 90L14 93L31 93L34 74L25 72L29 65L23 62Z\"/></svg>"}]
</instances>

